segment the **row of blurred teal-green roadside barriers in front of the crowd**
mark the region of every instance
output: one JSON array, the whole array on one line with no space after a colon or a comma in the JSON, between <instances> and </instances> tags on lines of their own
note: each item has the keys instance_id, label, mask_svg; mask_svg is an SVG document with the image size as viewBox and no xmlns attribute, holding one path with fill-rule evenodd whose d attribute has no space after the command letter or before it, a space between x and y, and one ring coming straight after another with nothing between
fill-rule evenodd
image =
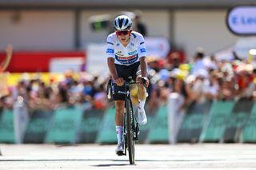
<instances>
[{"instance_id":1,"label":"row of blurred teal-green roadside barriers in front of the crowd","mask_svg":"<svg viewBox=\"0 0 256 170\"><path fill-rule=\"evenodd\" d=\"M178 133L170 130L172 117L167 105L149 109L146 105L148 123L139 125L138 143L158 144L180 142L250 142L256 143L256 103L241 99L239 101L206 101L194 103L180 118ZM23 109L17 109L23 110ZM16 111L17 111L16 110ZM24 111L24 110L23 110ZM136 113L136 108L134 109ZM21 114L22 115L22 114ZM169 115L169 116L168 116ZM18 117L17 117L18 116ZM111 105L106 111L90 110L73 106L60 107L54 112L35 110L25 124L20 115L14 117L14 110L4 109L0 114L0 143L99 143L116 144L115 108ZM16 120L16 121L15 121ZM17 124L14 122L25 122ZM23 135L19 125L26 125ZM174 125L176 126L176 125ZM15 130L18 130L15 135ZM174 142L170 135L176 136ZM24 138L23 138L24 136ZM19 142L17 140L19 137Z\"/></svg>"}]
</instances>

